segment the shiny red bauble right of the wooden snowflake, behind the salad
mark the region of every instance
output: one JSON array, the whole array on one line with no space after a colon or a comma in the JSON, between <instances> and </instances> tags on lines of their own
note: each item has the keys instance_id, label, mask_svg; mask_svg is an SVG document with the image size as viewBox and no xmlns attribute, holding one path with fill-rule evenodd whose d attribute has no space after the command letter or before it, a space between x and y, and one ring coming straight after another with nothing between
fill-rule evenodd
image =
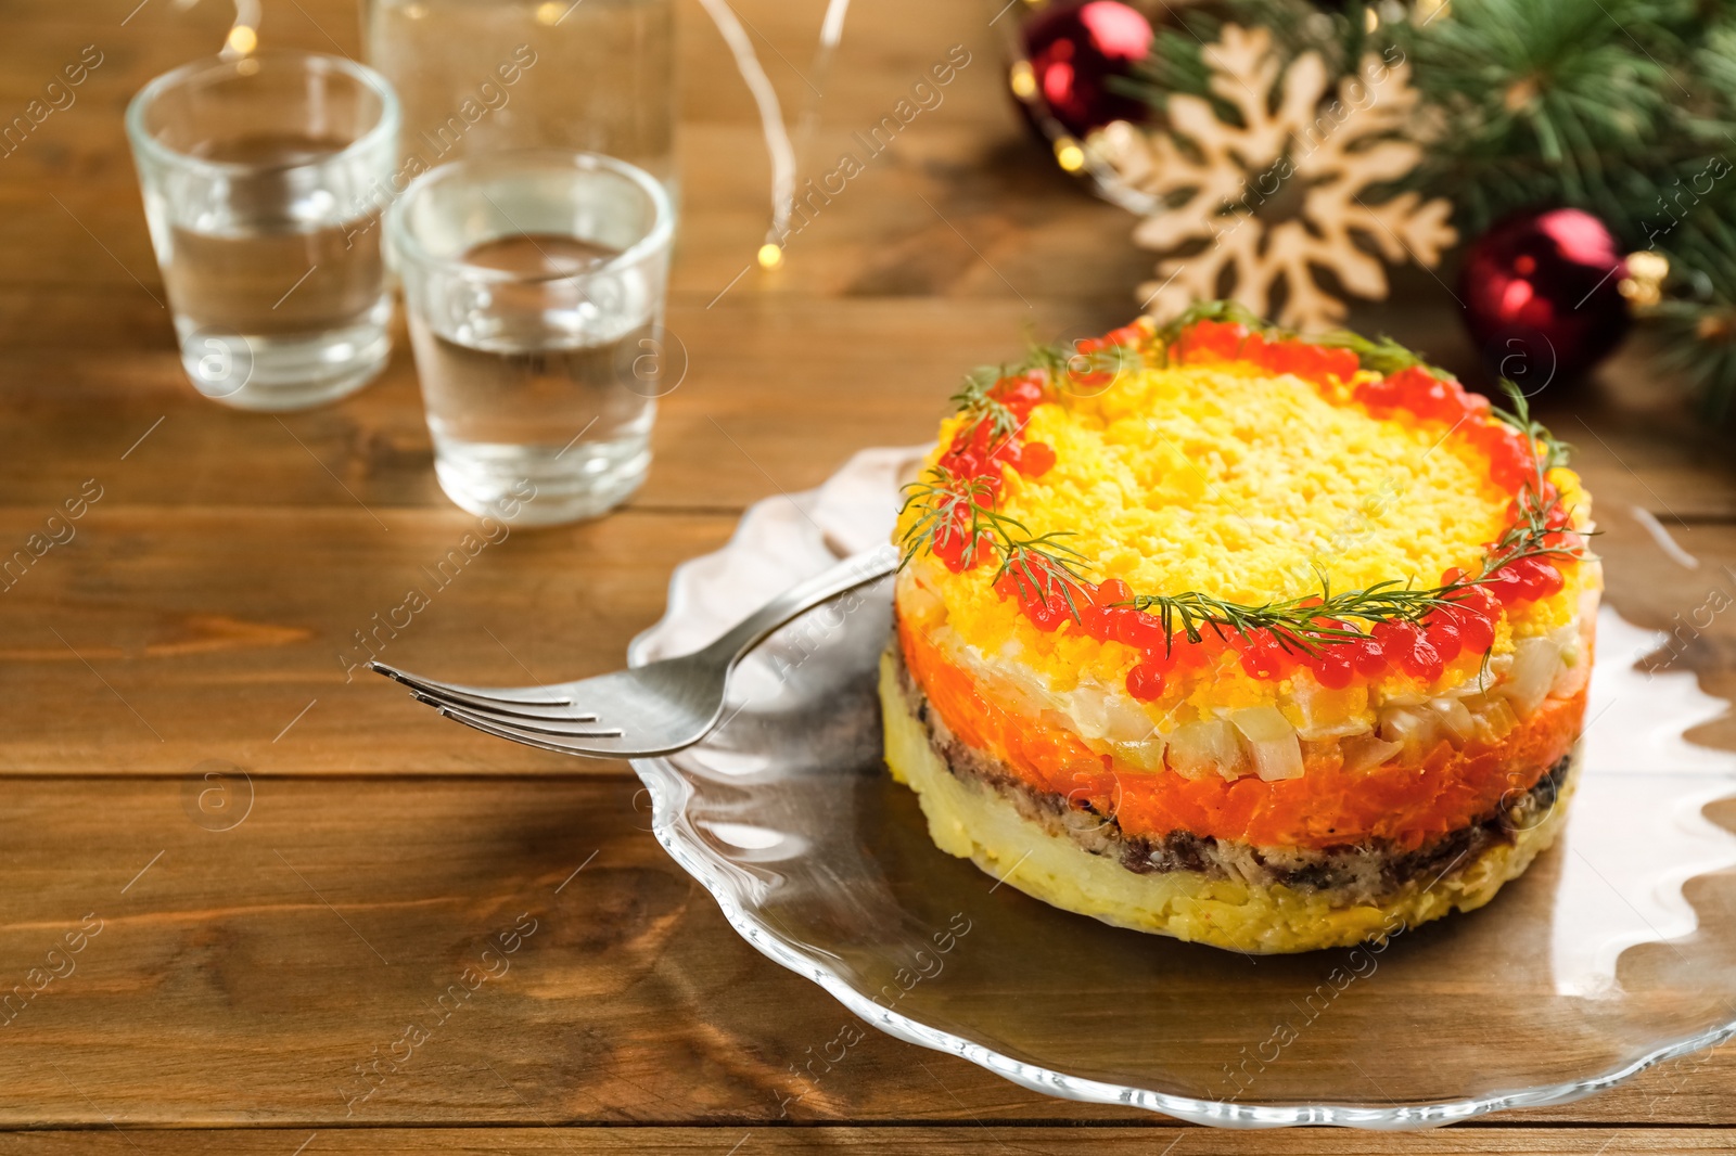
<instances>
[{"instance_id":1,"label":"shiny red bauble right of the wooden snowflake, behind the salad","mask_svg":"<svg viewBox=\"0 0 1736 1156\"><path fill-rule=\"evenodd\" d=\"M1630 319L1623 278L1627 260L1602 220L1550 208L1477 238L1465 250L1458 297L1489 370L1529 394L1616 347Z\"/></svg>"}]
</instances>

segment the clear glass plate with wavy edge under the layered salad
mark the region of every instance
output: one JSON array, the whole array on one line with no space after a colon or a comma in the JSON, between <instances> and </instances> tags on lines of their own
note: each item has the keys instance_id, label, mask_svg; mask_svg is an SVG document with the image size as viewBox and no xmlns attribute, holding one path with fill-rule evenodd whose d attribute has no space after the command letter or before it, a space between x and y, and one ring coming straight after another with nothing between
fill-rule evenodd
<instances>
[{"instance_id":1,"label":"clear glass plate with wavy edge under the layered salad","mask_svg":"<svg viewBox=\"0 0 1736 1156\"><path fill-rule=\"evenodd\" d=\"M691 651L885 542L915 456L868 450L750 509L675 571L628 660ZM1644 514L1599 519L1620 609L1668 621L1717 585ZM729 923L870 1024L1050 1095L1364 1128L1573 1100L1736 1034L1736 755L1682 738L1727 703L1614 609L1554 849L1488 908L1384 948L1253 958L1059 911L937 851L880 759L889 606L880 583L788 625L740 668L717 732L634 764L658 840Z\"/></svg>"}]
</instances>

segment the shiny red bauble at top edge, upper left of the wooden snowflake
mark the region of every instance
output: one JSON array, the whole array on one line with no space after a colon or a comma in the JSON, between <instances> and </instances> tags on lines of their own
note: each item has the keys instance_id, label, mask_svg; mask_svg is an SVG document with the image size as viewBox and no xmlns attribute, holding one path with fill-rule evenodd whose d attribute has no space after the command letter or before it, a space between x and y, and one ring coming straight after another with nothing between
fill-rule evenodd
<instances>
[{"instance_id":1,"label":"shiny red bauble at top edge, upper left of the wooden snowflake","mask_svg":"<svg viewBox=\"0 0 1736 1156\"><path fill-rule=\"evenodd\" d=\"M1151 111L1108 85L1151 54L1151 21L1120 0L1050 3L1024 24L1023 38L1035 99L1073 135L1111 120L1139 122Z\"/></svg>"}]
</instances>

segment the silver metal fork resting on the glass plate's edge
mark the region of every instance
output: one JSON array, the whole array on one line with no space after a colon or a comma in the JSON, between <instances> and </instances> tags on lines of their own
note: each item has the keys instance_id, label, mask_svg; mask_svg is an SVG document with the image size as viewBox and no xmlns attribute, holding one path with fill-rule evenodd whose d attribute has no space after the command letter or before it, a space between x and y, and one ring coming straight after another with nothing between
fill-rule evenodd
<instances>
[{"instance_id":1,"label":"silver metal fork resting on the glass plate's edge","mask_svg":"<svg viewBox=\"0 0 1736 1156\"><path fill-rule=\"evenodd\" d=\"M368 667L448 719L514 743L594 759L668 755L712 732L724 715L729 672L773 630L896 569L891 545L856 554L790 587L693 654L578 682L460 686L380 661Z\"/></svg>"}]
</instances>

